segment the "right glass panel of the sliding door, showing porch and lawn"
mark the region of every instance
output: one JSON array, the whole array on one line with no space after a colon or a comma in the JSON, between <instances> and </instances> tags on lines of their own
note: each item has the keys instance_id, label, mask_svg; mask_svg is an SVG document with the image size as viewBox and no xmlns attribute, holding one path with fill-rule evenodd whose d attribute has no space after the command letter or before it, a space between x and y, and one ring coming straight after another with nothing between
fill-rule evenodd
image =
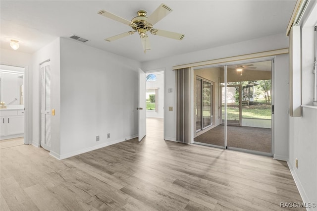
<instances>
[{"instance_id":1,"label":"right glass panel of the sliding door, showing porch and lawn","mask_svg":"<svg viewBox=\"0 0 317 211\"><path fill-rule=\"evenodd\" d=\"M228 66L228 149L271 154L271 115L271 60Z\"/></svg>"}]
</instances>

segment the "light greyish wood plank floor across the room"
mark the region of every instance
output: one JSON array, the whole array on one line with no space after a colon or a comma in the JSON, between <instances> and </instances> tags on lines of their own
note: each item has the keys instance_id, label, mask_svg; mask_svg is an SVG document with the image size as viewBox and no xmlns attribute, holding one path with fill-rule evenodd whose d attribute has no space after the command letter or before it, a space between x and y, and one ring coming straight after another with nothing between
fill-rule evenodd
<instances>
[{"instance_id":1,"label":"light greyish wood plank floor across the room","mask_svg":"<svg viewBox=\"0 0 317 211\"><path fill-rule=\"evenodd\" d=\"M30 145L1 149L0 210L285 211L281 202L302 202L286 162L164 141L162 121L148 123L141 143L64 160Z\"/></svg>"}]
</instances>

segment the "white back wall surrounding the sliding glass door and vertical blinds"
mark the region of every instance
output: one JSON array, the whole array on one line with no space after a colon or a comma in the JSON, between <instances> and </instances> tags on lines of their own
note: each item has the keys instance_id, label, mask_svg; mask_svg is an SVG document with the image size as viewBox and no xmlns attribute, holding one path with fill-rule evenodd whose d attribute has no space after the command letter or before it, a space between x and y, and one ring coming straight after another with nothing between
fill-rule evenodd
<instances>
[{"instance_id":1,"label":"white back wall surrounding the sliding glass door and vertical blinds","mask_svg":"<svg viewBox=\"0 0 317 211\"><path fill-rule=\"evenodd\" d=\"M175 114L175 73L172 70L172 66L181 65L181 64L188 64L192 62L199 62L199 61L206 61L212 60L217 58L225 58L230 56L236 55L243 55L248 53L258 53L258 52L265 52L277 49L288 48L288 37L285 36L285 33L277 34L273 36L268 36L260 39L249 40L245 42L235 43L231 45L216 47L212 49L207 49L203 51L193 52L193 53L186 53L182 55L175 55L170 56L167 58L162 58L154 61L148 61L142 63L143 70L151 70L151 69L159 69L165 68L165 107L173 106L174 111L167 111L165 110L164 114L164 125L165 125L165 132L164 138L166 140L176 140L176 114ZM276 65L278 66L279 71L276 74L276 81L282 81L281 86L283 89L276 89L276 96L282 96L282 99L288 99L288 85L285 83L285 79L287 80L288 77L285 76L288 72L288 56L287 55L280 55L276 57ZM285 86L285 87L284 87ZM172 93L167 93L166 90L168 88L172 88ZM287 92L285 92L287 90ZM279 138L275 140L276 148L275 149L278 153L279 158L287 158L288 156L288 127L287 127L287 108L288 108L288 100L286 101L277 101L279 104L275 105L275 109L277 112L275 115L275 119L281 118L280 122L282 125L286 125L278 127L278 130L275 130L276 137ZM286 149L286 150L285 150ZM277 155L277 154L276 154Z\"/></svg>"}]
</instances>

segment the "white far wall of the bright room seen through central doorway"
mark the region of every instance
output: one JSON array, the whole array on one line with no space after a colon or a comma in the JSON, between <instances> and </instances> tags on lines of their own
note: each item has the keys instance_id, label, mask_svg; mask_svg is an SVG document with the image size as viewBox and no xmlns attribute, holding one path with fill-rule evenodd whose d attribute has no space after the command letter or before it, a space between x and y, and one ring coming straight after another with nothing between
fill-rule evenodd
<instances>
[{"instance_id":1,"label":"white far wall of the bright room seen through central doorway","mask_svg":"<svg viewBox=\"0 0 317 211\"><path fill-rule=\"evenodd\" d=\"M147 73L155 74L157 76L156 81L147 81L147 89L148 88L159 88L158 89L158 110L157 111L150 111L147 110L147 117L152 118L163 118L164 117L164 72L151 72Z\"/></svg>"}]
</instances>

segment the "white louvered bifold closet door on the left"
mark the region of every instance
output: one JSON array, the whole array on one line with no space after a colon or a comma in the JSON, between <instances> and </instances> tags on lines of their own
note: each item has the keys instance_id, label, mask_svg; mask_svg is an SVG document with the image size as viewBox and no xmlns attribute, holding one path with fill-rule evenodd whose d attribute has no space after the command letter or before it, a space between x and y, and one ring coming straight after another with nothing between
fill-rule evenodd
<instances>
[{"instance_id":1,"label":"white louvered bifold closet door on the left","mask_svg":"<svg viewBox=\"0 0 317 211\"><path fill-rule=\"evenodd\" d=\"M51 63L41 64L41 147L51 150Z\"/></svg>"}]
</instances>

